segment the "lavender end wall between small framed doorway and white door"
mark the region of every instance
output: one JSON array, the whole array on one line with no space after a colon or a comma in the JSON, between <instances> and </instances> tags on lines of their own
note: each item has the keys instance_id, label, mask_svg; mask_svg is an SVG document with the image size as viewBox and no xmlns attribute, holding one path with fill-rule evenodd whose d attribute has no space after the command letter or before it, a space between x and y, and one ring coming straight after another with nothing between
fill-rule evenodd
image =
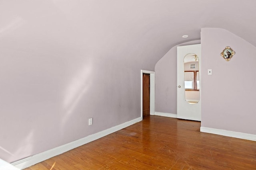
<instances>
[{"instance_id":1,"label":"lavender end wall between small framed doorway and white door","mask_svg":"<svg viewBox=\"0 0 256 170\"><path fill-rule=\"evenodd\" d=\"M177 114L177 47L200 44L200 40L172 47L155 66L157 112Z\"/></svg>"}]
</instances>

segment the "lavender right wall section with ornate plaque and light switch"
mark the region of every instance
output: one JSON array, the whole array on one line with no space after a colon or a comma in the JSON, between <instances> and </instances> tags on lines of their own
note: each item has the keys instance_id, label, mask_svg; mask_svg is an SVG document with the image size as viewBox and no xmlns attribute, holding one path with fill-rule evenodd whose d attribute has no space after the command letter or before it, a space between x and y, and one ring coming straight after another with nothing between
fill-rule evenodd
<instances>
[{"instance_id":1,"label":"lavender right wall section with ornate plaque and light switch","mask_svg":"<svg viewBox=\"0 0 256 170\"><path fill-rule=\"evenodd\" d=\"M201 126L256 134L256 47L225 29L201 33ZM230 61L220 56L226 46L236 52Z\"/></svg>"}]
</instances>

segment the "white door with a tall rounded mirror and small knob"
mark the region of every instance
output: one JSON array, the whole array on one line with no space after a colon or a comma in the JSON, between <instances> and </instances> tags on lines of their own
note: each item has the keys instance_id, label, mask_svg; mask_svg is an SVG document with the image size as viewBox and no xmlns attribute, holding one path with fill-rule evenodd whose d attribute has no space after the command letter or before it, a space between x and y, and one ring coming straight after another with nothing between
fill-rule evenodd
<instances>
[{"instance_id":1,"label":"white door with a tall rounded mirror and small knob","mask_svg":"<svg viewBox=\"0 0 256 170\"><path fill-rule=\"evenodd\" d=\"M177 117L180 119L201 121L200 71L201 44L177 47Z\"/></svg>"}]
</instances>

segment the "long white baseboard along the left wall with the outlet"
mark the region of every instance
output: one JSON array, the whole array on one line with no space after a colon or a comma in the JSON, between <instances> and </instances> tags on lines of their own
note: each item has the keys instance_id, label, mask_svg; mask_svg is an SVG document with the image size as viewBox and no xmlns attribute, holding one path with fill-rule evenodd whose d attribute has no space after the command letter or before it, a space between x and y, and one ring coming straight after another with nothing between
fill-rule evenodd
<instances>
[{"instance_id":1,"label":"long white baseboard along the left wall with the outlet","mask_svg":"<svg viewBox=\"0 0 256 170\"><path fill-rule=\"evenodd\" d=\"M82 139L78 139L76 141L67 143L67 144L62 145L60 147L56 147L54 149L46 150L45 152L35 154L33 156L29 156L27 158L12 162L11 164L13 166L15 166L16 168L19 168L19 169L28 168L28 167L30 167L34 164L37 164L37 163L42 162L46 159L52 158L53 156L56 156L56 155L62 154L64 152L67 152L68 150L72 150L74 148L80 147L80 146L82 146L86 143L92 142L96 139L99 139L101 137L104 137L106 135L114 133L116 131L119 131L119 130L125 128L125 127L130 126L130 125L133 125L134 123L138 123L139 121L142 121L142 117L138 117L138 118L133 119L131 121L128 121L128 122L122 123L120 125L117 125L117 126L109 128L109 129L106 129L104 131L100 131L98 133L89 135L89 136L84 137Z\"/></svg>"}]
</instances>

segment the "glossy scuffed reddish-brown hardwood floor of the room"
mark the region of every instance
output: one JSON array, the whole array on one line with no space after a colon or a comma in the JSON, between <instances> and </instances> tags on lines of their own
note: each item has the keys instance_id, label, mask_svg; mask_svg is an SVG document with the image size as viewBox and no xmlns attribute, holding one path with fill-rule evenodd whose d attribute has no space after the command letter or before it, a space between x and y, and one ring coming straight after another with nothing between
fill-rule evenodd
<instances>
[{"instance_id":1,"label":"glossy scuffed reddish-brown hardwood floor of the room","mask_svg":"<svg viewBox=\"0 0 256 170\"><path fill-rule=\"evenodd\" d=\"M253 170L256 169L256 142L201 133L198 121L151 115L139 123L26 170L51 168Z\"/></svg>"}]
</instances>

